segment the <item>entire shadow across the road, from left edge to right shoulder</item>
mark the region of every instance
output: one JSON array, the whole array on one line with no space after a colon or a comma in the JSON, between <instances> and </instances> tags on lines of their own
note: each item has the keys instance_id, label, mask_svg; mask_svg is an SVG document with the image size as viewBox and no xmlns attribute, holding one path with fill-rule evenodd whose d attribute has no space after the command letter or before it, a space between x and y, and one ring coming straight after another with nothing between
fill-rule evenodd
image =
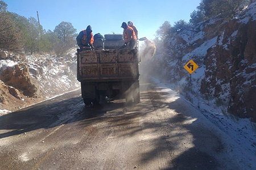
<instances>
[{"instance_id":1,"label":"entire shadow across the road, from left edge to right shoulder","mask_svg":"<svg viewBox=\"0 0 256 170\"><path fill-rule=\"evenodd\" d=\"M184 108L184 100L178 98L174 101L164 102L164 97L170 93L161 92L160 87L155 87L153 83L141 84L142 103L137 107L127 106L124 103L108 103L102 107L86 108L81 97L72 97L67 94L58 99L44 101L29 108L22 109L0 117L0 139L19 135L36 129L48 129L62 124L79 122L82 126L90 126L95 122L108 121L102 129L115 128L122 129L126 125L132 124L135 118L157 114L158 120L144 122L143 128L140 125L129 126L125 133L120 133L119 137L133 136L141 133L142 130L152 129L159 131L158 138L150 139L155 142L155 148L143 152L141 164L154 162L164 154L172 155L179 153L175 158L168 161L170 168L167 169L220 169L217 156L221 154L223 145L221 139L213 132L201 125L199 117L189 113L189 109ZM79 95L76 92L76 95ZM64 100L63 100L64 99ZM150 100L148 100L150 99ZM152 108L153 106L153 108ZM127 108L128 109L127 109ZM169 112L162 112L168 109ZM111 111L116 112L111 113ZM113 117L104 117L107 113ZM168 117L168 118L167 118ZM111 124L112 122L112 124ZM191 123L188 123L191 122ZM192 139L192 146L187 146L188 134ZM118 137L118 134L117 134ZM148 139L149 140L149 139ZM183 146L183 151L179 147ZM162 153L163 152L163 153Z\"/></svg>"}]
</instances>

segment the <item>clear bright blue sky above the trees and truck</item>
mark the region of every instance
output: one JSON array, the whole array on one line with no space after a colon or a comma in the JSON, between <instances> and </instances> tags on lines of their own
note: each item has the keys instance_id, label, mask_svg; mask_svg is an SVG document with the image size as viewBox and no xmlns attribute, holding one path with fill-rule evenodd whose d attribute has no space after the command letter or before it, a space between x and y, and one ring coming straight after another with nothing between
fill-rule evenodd
<instances>
[{"instance_id":1,"label":"clear bright blue sky above the trees and truck","mask_svg":"<svg viewBox=\"0 0 256 170\"><path fill-rule=\"evenodd\" d=\"M180 19L189 21L190 14L201 0L128 0L128 1L71 1L71 0L3 0L7 10L37 19L48 30L61 22L70 22L79 33L91 25L93 33L122 33L122 22L131 22L138 29L138 37L154 39L156 30L169 21L172 25Z\"/></svg>"}]
</instances>

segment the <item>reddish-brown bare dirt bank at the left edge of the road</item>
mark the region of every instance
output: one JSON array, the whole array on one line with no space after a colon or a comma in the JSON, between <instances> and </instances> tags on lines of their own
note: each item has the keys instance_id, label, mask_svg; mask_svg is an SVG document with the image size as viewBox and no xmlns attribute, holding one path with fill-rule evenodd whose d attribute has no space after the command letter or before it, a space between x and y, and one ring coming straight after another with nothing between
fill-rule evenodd
<instances>
[{"instance_id":1,"label":"reddish-brown bare dirt bank at the left edge of the road","mask_svg":"<svg viewBox=\"0 0 256 170\"><path fill-rule=\"evenodd\" d=\"M24 64L2 68L0 79L0 109L15 111L42 98L28 66Z\"/></svg>"}]
</instances>

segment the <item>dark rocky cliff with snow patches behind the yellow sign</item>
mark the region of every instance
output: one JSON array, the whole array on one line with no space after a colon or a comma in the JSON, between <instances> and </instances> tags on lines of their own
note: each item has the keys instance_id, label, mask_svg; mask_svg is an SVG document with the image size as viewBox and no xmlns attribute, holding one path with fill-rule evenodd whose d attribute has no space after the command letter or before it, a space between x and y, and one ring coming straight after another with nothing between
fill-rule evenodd
<instances>
[{"instance_id":1,"label":"dark rocky cliff with snow patches behind the yellow sign","mask_svg":"<svg viewBox=\"0 0 256 170\"><path fill-rule=\"evenodd\" d=\"M189 59L199 65L192 74L192 88L228 104L229 113L256 121L256 2L231 20L212 18L169 38L166 55L154 61L169 64L163 73L176 87L187 73L180 70ZM159 49L158 49L159 50Z\"/></svg>"}]
</instances>

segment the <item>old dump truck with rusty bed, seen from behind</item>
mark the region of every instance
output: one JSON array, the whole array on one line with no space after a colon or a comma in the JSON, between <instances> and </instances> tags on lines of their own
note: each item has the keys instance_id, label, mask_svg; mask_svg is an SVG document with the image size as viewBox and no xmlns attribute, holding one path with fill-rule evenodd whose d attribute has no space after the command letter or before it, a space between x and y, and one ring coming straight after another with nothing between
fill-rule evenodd
<instances>
[{"instance_id":1,"label":"old dump truck with rusty bed, seen from behind","mask_svg":"<svg viewBox=\"0 0 256 170\"><path fill-rule=\"evenodd\" d=\"M85 105L102 99L126 99L139 103L139 52L117 49L124 41L121 35L105 35L104 50L77 49L77 80Z\"/></svg>"}]
</instances>

